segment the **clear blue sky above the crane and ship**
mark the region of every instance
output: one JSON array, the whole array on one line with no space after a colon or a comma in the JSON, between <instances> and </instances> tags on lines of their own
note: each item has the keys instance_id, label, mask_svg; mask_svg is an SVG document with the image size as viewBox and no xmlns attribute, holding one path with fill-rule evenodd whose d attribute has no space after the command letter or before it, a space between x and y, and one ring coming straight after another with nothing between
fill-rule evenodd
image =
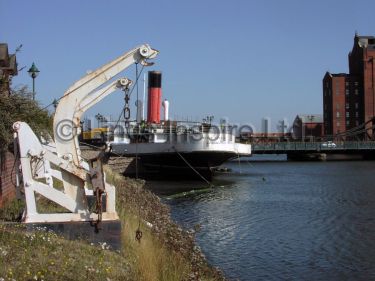
<instances>
[{"instance_id":1,"label":"clear blue sky above the crane and ship","mask_svg":"<svg viewBox=\"0 0 375 281\"><path fill-rule=\"evenodd\" d=\"M149 43L149 70L163 72L171 116L214 115L260 129L298 113L322 113L325 72L347 72L355 31L375 35L374 1L17 1L0 0L0 41L23 44L13 85L49 104L86 71ZM135 77L135 67L125 72ZM142 90L142 87L140 87ZM134 104L135 100L132 101ZM91 109L117 118L117 92Z\"/></svg>"}]
</instances>

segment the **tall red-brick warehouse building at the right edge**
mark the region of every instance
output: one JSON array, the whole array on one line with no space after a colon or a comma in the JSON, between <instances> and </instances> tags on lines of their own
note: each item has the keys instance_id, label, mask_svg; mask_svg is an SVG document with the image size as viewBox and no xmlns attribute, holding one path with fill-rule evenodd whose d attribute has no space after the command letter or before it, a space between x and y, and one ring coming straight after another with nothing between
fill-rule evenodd
<instances>
[{"instance_id":1,"label":"tall red-brick warehouse building at the right edge","mask_svg":"<svg viewBox=\"0 0 375 281\"><path fill-rule=\"evenodd\" d=\"M375 116L374 88L375 37L354 36L354 45L348 55L349 73L327 72L323 78L324 134L336 136L348 130L366 126L372 138Z\"/></svg>"}]
</instances>

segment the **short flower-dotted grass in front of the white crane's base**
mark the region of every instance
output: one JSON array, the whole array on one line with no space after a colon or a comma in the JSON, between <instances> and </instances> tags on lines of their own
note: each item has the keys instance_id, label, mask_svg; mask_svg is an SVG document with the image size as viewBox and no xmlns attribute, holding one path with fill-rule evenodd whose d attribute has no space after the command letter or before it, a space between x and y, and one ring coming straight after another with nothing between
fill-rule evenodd
<instances>
[{"instance_id":1,"label":"short flower-dotted grass in front of the white crane's base","mask_svg":"<svg viewBox=\"0 0 375 281\"><path fill-rule=\"evenodd\" d=\"M122 255L43 230L0 225L0 279L134 280Z\"/></svg>"}]
</instances>

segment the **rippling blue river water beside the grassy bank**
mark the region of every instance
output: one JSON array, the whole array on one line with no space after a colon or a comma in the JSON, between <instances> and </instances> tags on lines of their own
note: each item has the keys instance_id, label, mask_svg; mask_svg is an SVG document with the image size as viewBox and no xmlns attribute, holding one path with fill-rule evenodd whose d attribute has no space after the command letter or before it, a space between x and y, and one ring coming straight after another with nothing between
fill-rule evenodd
<instances>
[{"instance_id":1,"label":"rippling blue river water beside the grassy bank","mask_svg":"<svg viewBox=\"0 0 375 281\"><path fill-rule=\"evenodd\" d=\"M242 161L210 192L166 199L234 280L375 280L375 161ZM152 183L166 190L199 182ZM159 191L160 188L156 188Z\"/></svg>"}]
</instances>

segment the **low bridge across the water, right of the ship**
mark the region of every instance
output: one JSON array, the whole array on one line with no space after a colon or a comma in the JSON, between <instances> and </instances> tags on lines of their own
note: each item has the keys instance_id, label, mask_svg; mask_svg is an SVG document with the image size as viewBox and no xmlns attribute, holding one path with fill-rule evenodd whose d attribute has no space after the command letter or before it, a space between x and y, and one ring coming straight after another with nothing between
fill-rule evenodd
<instances>
[{"instance_id":1,"label":"low bridge across the water, right of the ship","mask_svg":"<svg viewBox=\"0 0 375 281\"><path fill-rule=\"evenodd\" d=\"M290 158L316 154L361 154L374 158L375 141L261 142L252 143L253 154L287 154Z\"/></svg>"}]
</instances>

